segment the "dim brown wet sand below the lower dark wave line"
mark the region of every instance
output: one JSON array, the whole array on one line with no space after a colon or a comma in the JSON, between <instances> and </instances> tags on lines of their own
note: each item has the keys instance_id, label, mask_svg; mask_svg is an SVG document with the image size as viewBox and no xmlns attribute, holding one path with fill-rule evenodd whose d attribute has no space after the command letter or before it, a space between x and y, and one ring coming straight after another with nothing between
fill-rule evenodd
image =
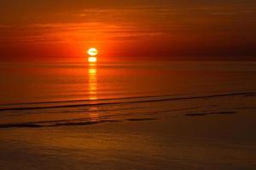
<instances>
[{"instance_id":1,"label":"dim brown wet sand below the lower dark wave line","mask_svg":"<svg viewBox=\"0 0 256 170\"><path fill-rule=\"evenodd\" d=\"M77 126L2 128L1 169L253 170L254 101L254 96L166 101L157 105L204 108Z\"/></svg>"}]
</instances>

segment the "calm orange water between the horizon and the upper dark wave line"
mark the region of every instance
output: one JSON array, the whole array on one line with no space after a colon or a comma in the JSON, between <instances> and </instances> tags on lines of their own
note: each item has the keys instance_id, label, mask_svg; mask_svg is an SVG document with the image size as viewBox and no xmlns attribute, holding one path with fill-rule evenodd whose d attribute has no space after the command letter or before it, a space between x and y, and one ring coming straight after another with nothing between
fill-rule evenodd
<instances>
[{"instance_id":1,"label":"calm orange water between the horizon and the upper dark wave line","mask_svg":"<svg viewBox=\"0 0 256 170\"><path fill-rule=\"evenodd\" d=\"M1 104L255 90L255 62L1 63Z\"/></svg>"}]
</instances>

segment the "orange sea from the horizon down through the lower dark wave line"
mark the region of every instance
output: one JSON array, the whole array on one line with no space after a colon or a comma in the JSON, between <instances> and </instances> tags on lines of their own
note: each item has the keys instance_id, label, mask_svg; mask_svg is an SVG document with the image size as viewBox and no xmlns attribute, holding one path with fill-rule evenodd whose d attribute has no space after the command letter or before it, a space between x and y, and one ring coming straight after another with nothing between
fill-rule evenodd
<instances>
[{"instance_id":1,"label":"orange sea from the horizon down through the lower dark wave line","mask_svg":"<svg viewBox=\"0 0 256 170\"><path fill-rule=\"evenodd\" d=\"M41 126L169 111L173 107L144 104L254 94L255 71L255 62L2 63L0 122Z\"/></svg>"}]
</instances>

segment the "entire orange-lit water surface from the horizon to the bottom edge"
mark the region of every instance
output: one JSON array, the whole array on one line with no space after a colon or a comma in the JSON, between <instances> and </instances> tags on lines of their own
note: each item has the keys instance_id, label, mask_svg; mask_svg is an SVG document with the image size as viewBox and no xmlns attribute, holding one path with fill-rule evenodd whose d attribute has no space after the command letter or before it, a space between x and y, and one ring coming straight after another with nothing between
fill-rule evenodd
<instances>
[{"instance_id":1,"label":"entire orange-lit water surface from the horizon to the bottom edge","mask_svg":"<svg viewBox=\"0 0 256 170\"><path fill-rule=\"evenodd\" d=\"M0 169L256 168L256 62L0 68Z\"/></svg>"}]
</instances>

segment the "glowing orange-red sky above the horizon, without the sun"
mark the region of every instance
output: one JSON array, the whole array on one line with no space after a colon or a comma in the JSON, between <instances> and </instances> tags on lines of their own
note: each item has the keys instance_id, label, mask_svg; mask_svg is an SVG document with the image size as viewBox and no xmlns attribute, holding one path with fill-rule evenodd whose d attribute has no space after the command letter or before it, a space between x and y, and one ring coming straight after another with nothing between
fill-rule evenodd
<instances>
[{"instance_id":1,"label":"glowing orange-red sky above the horizon, without the sun","mask_svg":"<svg viewBox=\"0 0 256 170\"><path fill-rule=\"evenodd\" d=\"M254 0L1 0L0 60L256 59Z\"/></svg>"}]
</instances>

